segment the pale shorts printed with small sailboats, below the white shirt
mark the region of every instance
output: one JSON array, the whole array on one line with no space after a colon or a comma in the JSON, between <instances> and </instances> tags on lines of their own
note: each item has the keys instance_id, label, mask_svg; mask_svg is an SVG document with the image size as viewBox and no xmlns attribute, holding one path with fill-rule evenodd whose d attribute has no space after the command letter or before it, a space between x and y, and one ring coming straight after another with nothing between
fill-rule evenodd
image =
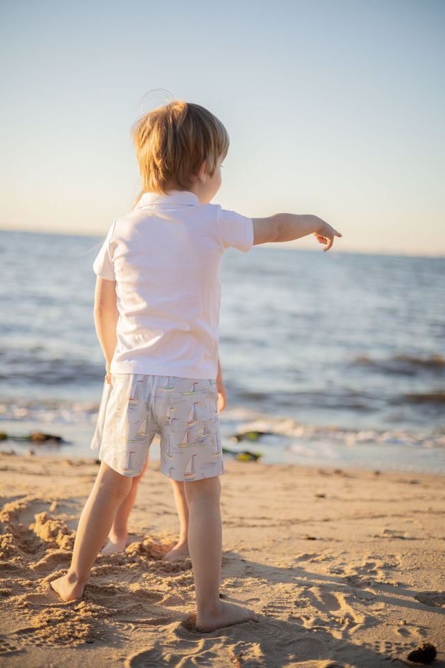
<instances>
[{"instance_id":1,"label":"pale shorts printed with small sailboats, below the white shirt","mask_svg":"<svg viewBox=\"0 0 445 668\"><path fill-rule=\"evenodd\" d=\"M222 475L217 404L215 381L112 374L91 447L118 473L136 476L157 433L165 476L184 481Z\"/></svg>"}]
</instances>

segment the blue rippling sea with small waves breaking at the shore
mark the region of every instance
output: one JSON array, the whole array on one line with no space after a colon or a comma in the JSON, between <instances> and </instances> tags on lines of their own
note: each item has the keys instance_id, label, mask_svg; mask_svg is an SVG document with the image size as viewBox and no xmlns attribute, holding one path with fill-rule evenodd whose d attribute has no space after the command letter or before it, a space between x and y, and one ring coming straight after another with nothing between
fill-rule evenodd
<instances>
[{"instance_id":1,"label":"blue rippling sea with small waves breaking at the shore","mask_svg":"<svg viewBox=\"0 0 445 668\"><path fill-rule=\"evenodd\" d=\"M91 456L101 243L0 232L0 431L13 437L3 451ZM222 282L227 450L445 473L444 258L260 246L228 250ZM31 431L65 443L14 440Z\"/></svg>"}]
</instances>

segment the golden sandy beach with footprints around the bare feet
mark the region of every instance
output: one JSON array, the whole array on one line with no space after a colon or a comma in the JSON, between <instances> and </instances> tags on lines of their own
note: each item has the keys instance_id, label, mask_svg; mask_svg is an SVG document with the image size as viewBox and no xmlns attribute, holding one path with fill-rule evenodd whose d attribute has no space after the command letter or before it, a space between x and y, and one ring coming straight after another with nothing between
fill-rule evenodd
<instances>
[{"instance_id":1,"label":"golden sandy beach with footprints around the bare feet","mask_svg":"<svg viewBox=\"0 0 445 668\"><path fill-rule=\"evenodd\" d=\"M444 477L229 461L221 593L259 621L201 634L190 560L161 561L178 526L157 462L127 550L82 601L52 593L97 468L0 455L0 665L397 668L431 642L445 666Z\"/></svg>"}]
</instances>

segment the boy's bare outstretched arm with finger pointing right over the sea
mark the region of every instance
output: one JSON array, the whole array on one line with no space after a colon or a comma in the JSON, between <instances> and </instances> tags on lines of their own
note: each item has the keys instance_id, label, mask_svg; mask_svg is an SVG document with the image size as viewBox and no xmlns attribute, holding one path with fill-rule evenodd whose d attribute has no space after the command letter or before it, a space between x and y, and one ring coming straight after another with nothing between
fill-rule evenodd
<instances>
[{"instance_id":1,"label":"boy's bare outstretched arm with finger pointing right over the sea","mask_svg":"<svg viewBox=\"0 0 445 668\"><path fill-rule=\"evenodd\" d=\"M324 244L323 250L329 250L334 237L341 237L340 232L311 214L275 214L268 218L252 218L253 243L268 244L270 241L292 241L315 234L317 241Z\"/></svg>"}]
</instances>

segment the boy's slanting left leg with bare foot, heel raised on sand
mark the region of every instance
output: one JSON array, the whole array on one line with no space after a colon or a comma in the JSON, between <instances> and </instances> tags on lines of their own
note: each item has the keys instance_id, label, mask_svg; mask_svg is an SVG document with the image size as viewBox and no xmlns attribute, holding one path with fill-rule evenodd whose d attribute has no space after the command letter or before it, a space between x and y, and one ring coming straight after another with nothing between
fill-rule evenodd
<instances>
[{"instance_id":1,"label":"boy's slanting left leg with bare foot, heel raised on sand","mask_svg":"<svg viewBox=\"0 0 445 668\"><path fill-rule=\"evenodd\" d=\"M131 477L120 475L102 462L79 520L70 569L66 575L51 582L51 587L64 601L81 598L92 564L106 541L116 511L129 493L131 484Z\"/></svg>"}]
</instances>

